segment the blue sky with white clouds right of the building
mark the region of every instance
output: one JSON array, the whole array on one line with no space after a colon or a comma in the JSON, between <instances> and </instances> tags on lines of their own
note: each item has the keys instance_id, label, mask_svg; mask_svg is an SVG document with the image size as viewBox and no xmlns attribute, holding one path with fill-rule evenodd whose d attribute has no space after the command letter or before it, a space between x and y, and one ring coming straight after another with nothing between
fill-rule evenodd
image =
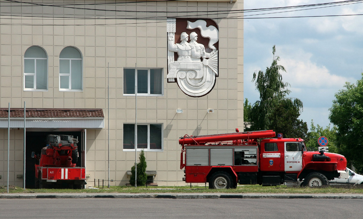
<instances>
[{"instance_id":1,"label":"blue sky with white clouds right of the building","mask_svg":"<svg viewBox=\"0 0 363 219\"><path fill-rule=\"evenodd\" d=\"M343 1L343 0L340 0ZM244 0L244 9L276 8L296 5L337 2L333 0ZM315 7L317 8L317 7ZM284 9L299 10L298 9ZM276 12L275 10L269 11ZM275 55L280 56L286 72L282 80L291 87L289 97L303 102L299 119L314 125L330 125L329 108L335 93L344 89L346 82L356 83L363 72L363 15L340 17L264 18L363 14L363 1L294 12L260 14L245 13L244 19L244 98L252 104L260 94L252 82L253 72L266 70ZM333 124L331 124L331 127Z\"/></svg>"}]
</instances>

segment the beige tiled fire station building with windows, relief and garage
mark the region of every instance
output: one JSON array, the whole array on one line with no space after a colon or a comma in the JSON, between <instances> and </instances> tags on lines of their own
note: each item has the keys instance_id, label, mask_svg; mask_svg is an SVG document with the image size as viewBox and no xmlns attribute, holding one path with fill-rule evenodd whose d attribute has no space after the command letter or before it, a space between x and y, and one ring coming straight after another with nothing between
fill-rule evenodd
<instances>
[{"instance_id":1,"label":"beige tiled fire station building with windows, relief and garage","mask_svg":"<svg viewBox=\"0 0 363 219\"><path fill-rule=\"evenodd\" d=\"M243 129L243 0L0 6L0 185L22 187L25 163L34 187L50 134L78 138L86 187L126 185L135 123L150 180L185 185L181 136Z\"/></svg>"}]
</instances>

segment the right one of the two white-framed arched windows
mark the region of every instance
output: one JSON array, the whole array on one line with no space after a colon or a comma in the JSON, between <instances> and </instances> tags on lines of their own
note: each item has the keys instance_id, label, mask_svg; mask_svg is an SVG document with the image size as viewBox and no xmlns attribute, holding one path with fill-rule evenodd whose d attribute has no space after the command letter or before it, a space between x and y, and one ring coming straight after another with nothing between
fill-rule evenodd
<instances>
[{"instance_id":1,"label":"right one of the two white-framed arched windows","mask_svg":"<svg viewBox=\"0 0 363 219\"><path fill-rule=\"evenodd\" d=\"M59 55L59 90L82 90L82 56L74 47Z\"/></svg>"}]
</instances>

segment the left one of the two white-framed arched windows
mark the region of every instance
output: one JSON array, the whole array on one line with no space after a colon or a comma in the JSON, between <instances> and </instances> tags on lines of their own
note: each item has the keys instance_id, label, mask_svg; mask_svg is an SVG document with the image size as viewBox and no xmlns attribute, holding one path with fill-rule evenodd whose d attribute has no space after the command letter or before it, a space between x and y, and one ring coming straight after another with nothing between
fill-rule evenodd
<instances>
[{"instance_id":1,"label":"left one of the two white-framed arched windows","mask_svg":"<svg viewBox=\"0 0 363 219\"><path fill-rule=\"evenodd\" d=\"M29 47L24 54L24 90L48 89L48 58L39 46Z\"/></svg>"}]
</instances>

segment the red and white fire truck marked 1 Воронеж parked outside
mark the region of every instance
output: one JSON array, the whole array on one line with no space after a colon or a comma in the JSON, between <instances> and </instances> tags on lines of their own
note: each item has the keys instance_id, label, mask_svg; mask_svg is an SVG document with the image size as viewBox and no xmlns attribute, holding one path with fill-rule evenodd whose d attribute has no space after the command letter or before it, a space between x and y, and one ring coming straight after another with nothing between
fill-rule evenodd
<instances>
[{"instance_id":1,"label":"red and white fire truck marked 1 \u0412\u043e\u0440\u043e\u043d\u0435\u0436 parked outside","mask_svg":"<svg viewBox=\"0 0 363 219\"><path fill-rule=\"evenodd\" d=\"M236 188L238 183L270 186L298 180L303 186L321 186L334 178L348 178L343 155L306 151L303 139L282 134L273 138L272 130L236 131L181 137L183 180L223 189Z\"/></svg>"}]
</instances>

